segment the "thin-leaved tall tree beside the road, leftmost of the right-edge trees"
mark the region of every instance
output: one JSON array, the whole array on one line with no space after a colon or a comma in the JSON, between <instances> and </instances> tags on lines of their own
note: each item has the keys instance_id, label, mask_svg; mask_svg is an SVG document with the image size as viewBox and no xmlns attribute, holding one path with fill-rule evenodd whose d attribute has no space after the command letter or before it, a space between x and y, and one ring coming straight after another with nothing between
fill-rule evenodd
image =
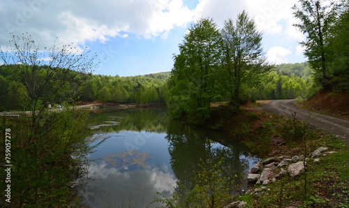
<instances>
[{"instance_id":1,"label":"thin-leaved tall tree beside the road, leftmost of the right-edge trees","mask_svg":"<svg viewBox=\"0 0 349 208\"><path fill-rule=\"evenodd\" d=\"M300 7L295 5L293 15L300 24L294 24L303 34L306 41L300 44L305 48L304 55L315 71L320 83L325 86L329 81L327 65L329 63L329 40L333 36L333 26L337 17L338 4L326 0L299 0Z\"/></svg>"}]
</instances>

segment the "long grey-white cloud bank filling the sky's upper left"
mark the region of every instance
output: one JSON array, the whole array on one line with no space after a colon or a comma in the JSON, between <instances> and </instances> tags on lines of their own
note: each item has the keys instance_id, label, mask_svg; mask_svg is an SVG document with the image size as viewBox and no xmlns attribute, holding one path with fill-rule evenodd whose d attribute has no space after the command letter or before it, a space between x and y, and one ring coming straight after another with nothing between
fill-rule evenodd
<instances>
[{"instance_id":1,"label":"long grey-white cloud bank filling the sky's upper left","mask_svg":"<svg viewBox=\"0 0 349 208\"><path fill-rule=\"evenodd\" d=\"M182 0L22 0L1 1L0 8L0 43L8 43L8 32L28 32L45 47L56 37L79 45L127 34L165 38L164 32L193 20Z\"/></svg>"}]
</instances>

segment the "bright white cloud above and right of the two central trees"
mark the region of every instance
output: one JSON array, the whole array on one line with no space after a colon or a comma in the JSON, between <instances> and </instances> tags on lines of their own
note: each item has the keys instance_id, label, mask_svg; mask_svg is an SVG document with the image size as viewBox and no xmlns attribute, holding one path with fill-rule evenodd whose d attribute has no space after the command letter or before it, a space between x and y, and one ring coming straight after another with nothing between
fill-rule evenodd
<instances>
[{"instance_id":1,"label":"bright white cloud above and right of the two central trees","mask_svg":"<svg viewBox=\"0 0 349 208\"><path fill-rule=\"evenodd\" d=\"M242 10L246 10L250 17L253 17L260 31L268 34L285 34L292 40L301 40L302 34L292 24L292 6L297 0L200 0L195 8L195 20L200 17L212 17L220 27L223 27L224 20L229 18L235 20ZM287 24L285 24L286 22Z\"/></svg>"}]
</instances>

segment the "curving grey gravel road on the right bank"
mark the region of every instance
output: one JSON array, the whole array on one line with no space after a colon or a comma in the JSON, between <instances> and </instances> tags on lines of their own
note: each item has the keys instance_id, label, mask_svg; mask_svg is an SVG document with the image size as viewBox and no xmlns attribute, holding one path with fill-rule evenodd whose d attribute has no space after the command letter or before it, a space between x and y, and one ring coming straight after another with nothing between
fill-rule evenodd
<instances>
[{"instance_id":1,"label":"curving grey gravel road on the right bank","mask_svg":"<svg viewBox=\"0 0 349 208\"><path fill-rule=\"evenodd\" d=\"M285 117L292 117L292 113L296 112L296 119L306 121L312 126L325 129L336 135L336 137L340 138L343 142L349 144L349 121L304 110L297 107L294 104L295 101L299 100L270 101L268 103L263 103L261 106L266 112L281 114Z\"/></svg>"}]
</instances>

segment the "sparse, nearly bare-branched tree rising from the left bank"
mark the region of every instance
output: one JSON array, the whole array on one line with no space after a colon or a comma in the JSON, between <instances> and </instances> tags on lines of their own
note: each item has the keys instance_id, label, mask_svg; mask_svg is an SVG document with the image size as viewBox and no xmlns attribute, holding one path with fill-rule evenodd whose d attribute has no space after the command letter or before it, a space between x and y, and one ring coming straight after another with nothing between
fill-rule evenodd
<instances>
[{"instance_id":1,"label":"sparse, nearly bare-branched tree rising from the left bank","mask_svg":"<svg viewBox=\"0 0 349 208\"><path fill-rule=\"evenodd\" d=\"M72 45L58 47L54 44L50 49L43 50L28 34L22 37L13 35L9 43L6 50L0 47L0 60L13 79L27 90L20 88L29 99L33 136L34 127L47 104L61 94L67 84L75 82L79 74L94 68L96 56L88 57L89 51L86 50L77 53L77 48ZM45 73L40 74L43 67L46 68ZM40 105L41 102L43 105Z\"/></svg>"}]
</instances>

